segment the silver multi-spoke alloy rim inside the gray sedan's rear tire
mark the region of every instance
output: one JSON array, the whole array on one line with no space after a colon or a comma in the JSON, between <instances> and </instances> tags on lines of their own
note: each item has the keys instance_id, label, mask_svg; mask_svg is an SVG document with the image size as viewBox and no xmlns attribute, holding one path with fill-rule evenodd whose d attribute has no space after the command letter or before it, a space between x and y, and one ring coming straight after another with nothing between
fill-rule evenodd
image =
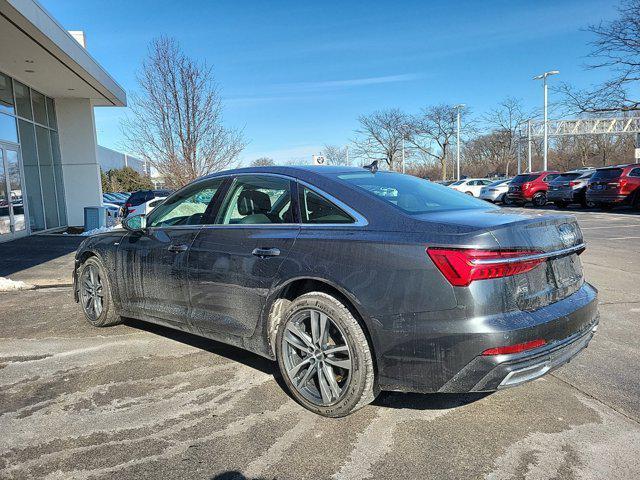
<instances>
[{"instance_id":1,"label":"silver multi-spoke alloy rim inside the gray sedan's rear tire","mask_svg":"<svg viewBox=\"0 0 640 480\"><path fill-rule=\"evenodd\" d=\"M304 309L292 316L282 335L287 376L308 401L336 403L351 380L352 354L340 327L324 312Z\"/></svg>"}]
</instances>

